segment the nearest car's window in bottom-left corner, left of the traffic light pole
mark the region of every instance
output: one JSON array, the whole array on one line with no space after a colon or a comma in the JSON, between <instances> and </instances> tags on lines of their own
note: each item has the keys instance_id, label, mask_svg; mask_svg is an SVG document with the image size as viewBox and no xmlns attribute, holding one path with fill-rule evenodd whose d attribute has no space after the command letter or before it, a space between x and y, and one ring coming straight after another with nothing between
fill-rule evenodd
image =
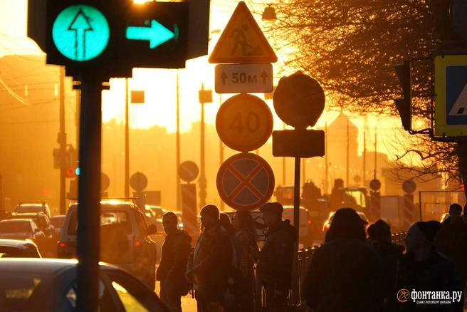
<instances>
[{"instance_id":1,"label":"nearest car's window in bottom-left corner, left of the traffic light pole","mask_svg":"<svg viewBox=\"0 0 467 312\"><path fill-rule=\"evenodd\" d=\"M48 276L27 271L0 273L1 311L38 311L37 304L46 293L38 293L39 288L48 289ZM40 292L40 291L39 291Z\"/></svg>"}]
</instances>

